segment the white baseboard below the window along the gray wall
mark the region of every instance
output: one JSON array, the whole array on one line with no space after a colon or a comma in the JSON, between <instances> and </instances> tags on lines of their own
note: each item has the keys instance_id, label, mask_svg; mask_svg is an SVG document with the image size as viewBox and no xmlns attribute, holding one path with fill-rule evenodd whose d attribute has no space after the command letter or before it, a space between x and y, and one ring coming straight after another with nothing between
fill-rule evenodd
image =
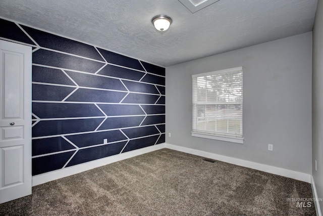
<instances>
[{"instance_id":1,"label":"white baseboard below the window along the gray wall","mask_svg":"<svg viewBox=\"0 0 323 216\"><path fill-rule=\"evenodd\" d=\"M279 167L275 167L275 166L265 165L265 164L261 164L261 163L255 163L255 162L251 162L248 160L242 160L242 159L238 159L238 158L233 158L233 157L223 156L223 155L219 155L219 154L204 152L204 151L200 151L200 150L196 150L196 149L190 149L190 148L186 148L186 147L176 146L176 145L172 145L172 144L168 144L168 143L165 143L165 148L169 148L169 149L173 149L173 150L177 150L177 151L181 151L181 152L185 152L185 153L189 153L189 154L198 155L201 157L207 157L207 158L214 159L214 160L220 160L223 162L232 163L232 164L239 165L239 166L244 166L244 167L248 167L248 168L252 168L252 169L256 169L256 170L260 170L260 171L264 171L264 172L269 172L271 174L296 179L296 180L299 180L302 182L311 183L311 175L304 174L303 172L292 171L292 170L283 169L283 168L279 168Z\"/></svg>"}]
</instances>

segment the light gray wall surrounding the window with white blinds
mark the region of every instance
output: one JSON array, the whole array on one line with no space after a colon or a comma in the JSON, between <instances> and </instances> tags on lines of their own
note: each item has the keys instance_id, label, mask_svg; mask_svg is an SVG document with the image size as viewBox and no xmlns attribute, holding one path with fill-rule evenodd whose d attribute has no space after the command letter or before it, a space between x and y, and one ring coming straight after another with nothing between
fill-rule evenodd
<instances>
[{"instance_id":1,"label":"light gray wall surrounding the window with white blinds","mask_svg":"<svg viewBox=\"0 0 323 216\"><path fill-rule=\"evenodd\" d=\"M191 137L191 75L238 66L244 144ZM311 174L311 70L312 32L167 67L166 143Z\"/></svg>"}]
</instances>

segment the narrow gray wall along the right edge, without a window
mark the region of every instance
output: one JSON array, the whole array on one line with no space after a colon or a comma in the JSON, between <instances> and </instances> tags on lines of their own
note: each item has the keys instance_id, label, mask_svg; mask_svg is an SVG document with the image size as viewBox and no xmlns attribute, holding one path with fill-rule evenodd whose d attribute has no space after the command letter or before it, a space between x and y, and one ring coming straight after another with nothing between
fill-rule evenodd
<instances>
[{"instance_id":1,"label":"narrow gray wall along the right edge, without a window","mask_svg":"<svg viewBox=\"0 0 323 216\"><path fill-rule=\"evenodd\" d=\"M313 179L317 196L323 197L323 2L318 1L313 28ZM315 160L317 171L315 171ZM323 203L320 202L323 212Z\"/></svg>"}]
</instances>

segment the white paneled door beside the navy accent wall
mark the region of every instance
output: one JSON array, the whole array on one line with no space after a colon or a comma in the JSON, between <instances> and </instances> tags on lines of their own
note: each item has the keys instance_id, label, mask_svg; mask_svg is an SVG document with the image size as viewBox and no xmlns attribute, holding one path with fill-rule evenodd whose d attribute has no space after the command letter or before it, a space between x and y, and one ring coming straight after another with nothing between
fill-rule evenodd
<instances>
[{"instance_id":1,"label":"white paneled door beside the navy accent wall","mask_svg":"<svg viewBox=\"0 0 323 216\"><path fill-rule=\"evenodd\" d=\"M0 203L31 194L31 47L0 40Z\"/></svg>"}]
</instances>

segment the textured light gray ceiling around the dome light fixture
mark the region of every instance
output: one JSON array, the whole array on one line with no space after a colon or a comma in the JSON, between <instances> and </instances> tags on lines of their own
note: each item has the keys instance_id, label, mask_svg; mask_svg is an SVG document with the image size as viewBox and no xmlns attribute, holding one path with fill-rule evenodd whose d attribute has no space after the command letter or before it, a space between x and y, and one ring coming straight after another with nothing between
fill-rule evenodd
<instances>
[{"instance_id":1,"label":"textured light gray ceiling around the dome light fixture","mask_svg":"<svg viewBox=\"0 0 323 216\"><path fill-rule=\"evenodd\" d=\"M191 13L177 0L1 0L11 19L160 66L312 30L317 0L220 0ZM151 18L173 19L157 32Z\"/></svg>"}]
</instances>

